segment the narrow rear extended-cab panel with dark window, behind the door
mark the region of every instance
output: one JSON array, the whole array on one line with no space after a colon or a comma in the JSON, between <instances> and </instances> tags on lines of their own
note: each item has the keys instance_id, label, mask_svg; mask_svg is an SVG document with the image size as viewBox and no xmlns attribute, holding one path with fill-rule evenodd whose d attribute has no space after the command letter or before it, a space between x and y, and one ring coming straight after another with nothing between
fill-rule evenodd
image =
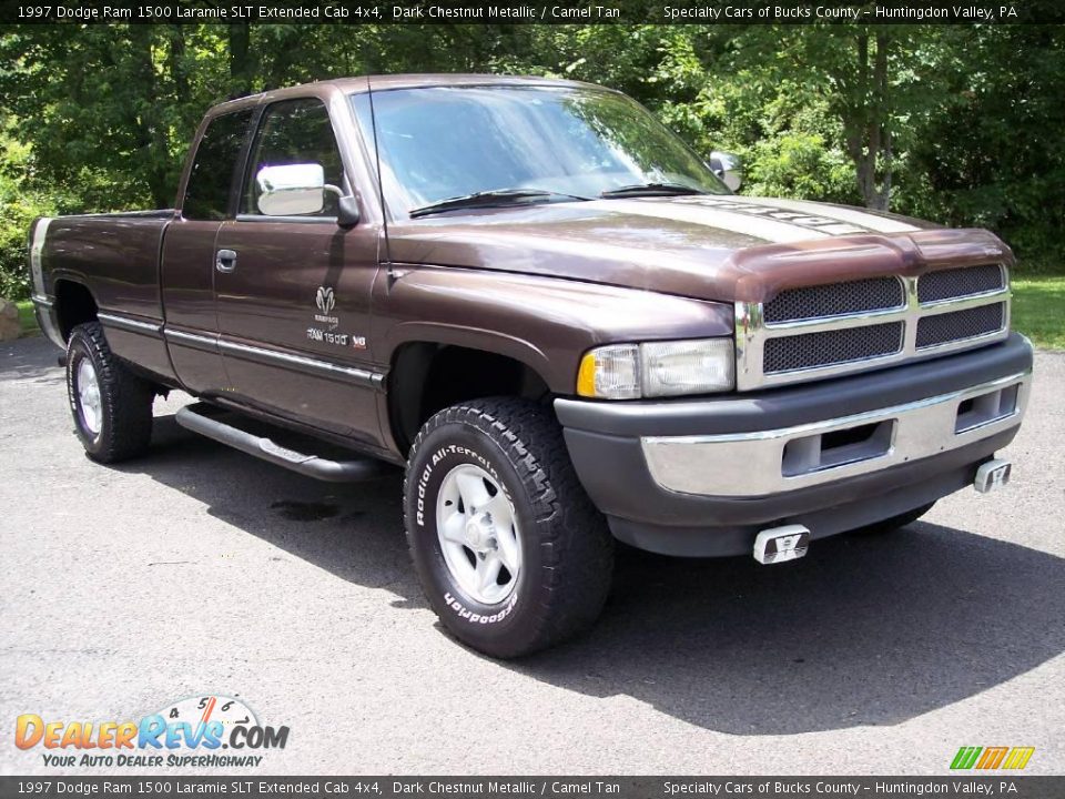
<instances>
[{"instance_id":1,"label":"narrow rear extended-cab panel with dark window, behind the door","mask_svg":"<svg viewBox=\"0 0 1065 799\"><path fill-rule=\"evenodd\" d=\"M161 256L165 337L179 380L195 394L222 395L229 378L214 309L215 246L230 215L255 109L206 122L190 168L181 214L168 227Z\"/></svg>"}]
</instances>

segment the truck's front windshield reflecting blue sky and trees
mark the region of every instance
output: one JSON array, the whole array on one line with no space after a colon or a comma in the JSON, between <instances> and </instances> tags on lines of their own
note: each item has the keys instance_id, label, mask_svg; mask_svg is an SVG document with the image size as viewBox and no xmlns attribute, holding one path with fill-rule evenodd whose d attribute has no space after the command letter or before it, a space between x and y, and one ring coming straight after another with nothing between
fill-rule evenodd
<instances>
[{"instance_id":1,"label":"truck's front windshield reflecting blue sky and trees","mask_svg":"<svg viewBox=\"0 0 1065 799\"><path fill-rule=\"evenodd\" d=\"M353 98L367 142L369 101ZM599 198L653 184L729 190L648 111L613 92L556 87L434 87L374 92L389 209L409 213L484 192ZM568 198L565 195L569 195Z\"/></svg>"}]
</instances>

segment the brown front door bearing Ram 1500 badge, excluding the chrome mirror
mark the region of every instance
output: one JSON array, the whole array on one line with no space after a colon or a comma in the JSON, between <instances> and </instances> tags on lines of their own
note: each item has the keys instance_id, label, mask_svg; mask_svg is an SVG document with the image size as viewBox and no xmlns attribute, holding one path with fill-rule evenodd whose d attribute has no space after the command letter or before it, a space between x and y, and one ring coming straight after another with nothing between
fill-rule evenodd
<instances>
[{"instance_id":1,"label":"brown front door bearing Ram 1500 badge, excluding the chrome mirror","mask_svg":"<svg viewBox=\"0 0 1065 799\"><path fill-rule=\"evenodd\" d=\"M371 286L379 225L337 224L337 194L321 212L267 216L257 204L264 166L321 164L352 194L328 111L316 98L266 105L240 188L236 218L215 242L220 342L234 398L333 433L378 439L369 350Z\"/></svg>"}]
</instances>

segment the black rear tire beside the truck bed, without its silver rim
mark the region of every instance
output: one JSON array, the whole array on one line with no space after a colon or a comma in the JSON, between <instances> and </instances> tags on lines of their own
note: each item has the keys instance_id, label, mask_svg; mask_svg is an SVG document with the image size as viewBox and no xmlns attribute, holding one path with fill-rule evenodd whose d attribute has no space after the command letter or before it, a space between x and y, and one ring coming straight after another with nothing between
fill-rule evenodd
<instances>
[{"instance_id":1,"label":"black rear tire beside the truck bed, without its silver rim","mask_svg":"<svg viewBox=\"0 0 1065 799\"><path fill-rule=\"evenodd\" d=\"M100 386L99 432L82 418L78 374L88 360ZM100 463L118 463L148 449L152 438L152 402L155 391L114 356L99 322L80 324L67 342L67 395L74 417L74 433L85 453Z\"/></svg>"}]
</instances>

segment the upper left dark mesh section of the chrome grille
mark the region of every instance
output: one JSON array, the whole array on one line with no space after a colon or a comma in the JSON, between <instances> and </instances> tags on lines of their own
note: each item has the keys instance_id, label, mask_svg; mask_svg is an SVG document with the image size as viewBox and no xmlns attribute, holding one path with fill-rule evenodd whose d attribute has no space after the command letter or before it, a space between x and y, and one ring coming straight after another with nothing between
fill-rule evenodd
<instances>
[{"instance_id":1,"label":"upper left dark mesh section of the chrome grille","mask_svg":"<svg viewBox=\"0 0 1065 799\"><path fill-rule=\"evenodd\" d=\"M901 280L870 277L787 289L765 303L762 314L767 323L773 324L896 309L905 303L906 294Z\"/></svg>"}]
</instances>

